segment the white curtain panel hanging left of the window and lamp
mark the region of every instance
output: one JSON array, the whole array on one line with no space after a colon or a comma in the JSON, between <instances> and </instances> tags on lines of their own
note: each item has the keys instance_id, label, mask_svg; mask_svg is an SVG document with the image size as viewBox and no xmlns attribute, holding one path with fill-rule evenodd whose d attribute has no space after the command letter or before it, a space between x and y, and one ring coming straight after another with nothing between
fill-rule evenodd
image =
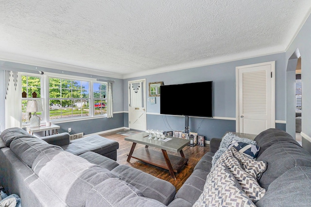
<instances>
[{"instance_id":1,"label":"white curtain panel hanging left of the window and lamp","mask_svg":"<svg viewBox=\"0 0 311 207\"><path fill-rule=\"evenodd\" d=\"M18 72L5 71L5 128L21 127L21 81Z\"/></svg>"}]
</instances>

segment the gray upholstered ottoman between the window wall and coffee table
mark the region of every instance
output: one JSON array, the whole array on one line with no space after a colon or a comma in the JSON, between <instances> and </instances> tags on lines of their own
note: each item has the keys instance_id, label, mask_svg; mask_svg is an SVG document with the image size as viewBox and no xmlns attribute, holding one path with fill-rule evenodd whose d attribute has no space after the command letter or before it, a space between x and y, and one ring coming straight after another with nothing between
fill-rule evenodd
<instances>
[{"instance_id":1,"label":"gray upholstered ottoman between the window wall and coffee table","mask_svg":"<svg viewBox=\"0 0 311 207\"><path fill-rule=\"evenodd\" d=\"M95 134L81 139L72 140L69 144L61 147L65 151L71 152L74 155L81 155L85 152L91 151L107 158L117 160L119 143Z\"/></svg>"}]
</instances>

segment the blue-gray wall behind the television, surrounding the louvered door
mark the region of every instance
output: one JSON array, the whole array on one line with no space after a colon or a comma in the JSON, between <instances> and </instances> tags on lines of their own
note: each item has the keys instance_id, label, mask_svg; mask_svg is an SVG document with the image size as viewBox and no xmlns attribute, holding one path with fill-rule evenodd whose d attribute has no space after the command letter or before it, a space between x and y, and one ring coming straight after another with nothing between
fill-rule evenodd
<instances>
[{"instance_id":1,"label":"blue-gray wall behind the television, surrounding the louvered door","mask_svg":"<svg viewBox=\"0 0 311 207\"><path fill-rule=\"evenodd\" d=\"M149 82L163 81L164 85L213 81L213 116L207 118L190 118L190 131L204 135L206 140L213 137L222 137L226 131L235 131L236 118L236 66L258 64L276 61L276 120L286 120L286 67L285 53L266 55L245 60L232 61L222 64L213 64L196 68L160 73L144 77L124 80L124 86L130 80L146 79ZM148 92L146 92L147 98ZM176 94L174 97L193 98L191 95ZM124 110L128 110L128 89L124 87ZM202 97L204 98L204 92ZM160 97L156 97L156 104L147 102L147 128L161 130L183 130L185 119L178 116L160 115ZM232 120L233 119L233 120ZM170 126L170 127L168 127ZM278 123L276 127L285 128L285 124Z\"/></svg>"}]
</instances>

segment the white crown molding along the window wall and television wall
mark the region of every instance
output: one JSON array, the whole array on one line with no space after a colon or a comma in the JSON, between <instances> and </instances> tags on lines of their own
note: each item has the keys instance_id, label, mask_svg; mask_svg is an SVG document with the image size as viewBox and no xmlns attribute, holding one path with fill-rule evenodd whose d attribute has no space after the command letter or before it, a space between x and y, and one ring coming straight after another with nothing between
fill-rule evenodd
<instances>
[{"instance_id":1,"label":"white crown molding along the window wall and television wall","mask_svg":"<svg viewBox=\"0 0 311 207\"><path fill-rule=\"evenodd\" d=\"M191 62L186 62L182 64L174 64L174 65L169 65L165 67L158 67L155 69L144 70L144 71L137 72L137 73L123 74L123 75L103 71L100 69L86 68L86 67L82 67L78 65L58 63L58 62L38 59L34 57L29 57L25 55L7 53L3 51L0 51L0 57L1 57L0 61L18 63L18 64L27 64L29 66L34 66L32 70L37 70L35 67L43 67L43 69L41 70L43 71L45 70L44 72L53 72L53 70L54 71L61 70L60 72L58 71L58 73L68 74L68 72L72 72L72 73L87 74L90 77L92 77L93 75L93 76L103 76L103 77L118 78L118 79L130 79L130 78L137 78L141 76L155 75L159 73L166 73L166 72L190 69L190 68L213 65L213 64L228 63L228 62L239 61L239 60L244 60L244 59L249 59L249 58L256 58L260 56L272 55L272 54L277 54L281 52L285 52L284 48L282 47L263 48L263 49L259 49L256 51L241 52L241 53L232 54L232 55L223 55L219 57L191 61Z\"/></svg>"}]
</instances>

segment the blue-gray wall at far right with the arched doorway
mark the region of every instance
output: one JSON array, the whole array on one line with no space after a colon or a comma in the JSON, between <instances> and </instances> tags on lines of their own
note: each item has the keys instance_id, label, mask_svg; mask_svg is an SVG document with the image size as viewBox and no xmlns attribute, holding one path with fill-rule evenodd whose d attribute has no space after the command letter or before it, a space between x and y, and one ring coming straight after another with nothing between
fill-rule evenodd
<instances>
[{"instance_id":1,"label":"blue-gray wall at far right with the arched doorway","mask_svg":"<svg viewBox=\"0 0 311 207\"><path fill-rule=\"evenodd\" d=\"M286 51L286 64L294 51L298 48L301 55L301 81L302 81L302 146L311 152L311 16L308 17L293 43ZM289 84L291 84L290 82ZM290 113L292 109L287 109ZM292 120L287 120L292 121Z\"/></svg>"}]
</instances>

